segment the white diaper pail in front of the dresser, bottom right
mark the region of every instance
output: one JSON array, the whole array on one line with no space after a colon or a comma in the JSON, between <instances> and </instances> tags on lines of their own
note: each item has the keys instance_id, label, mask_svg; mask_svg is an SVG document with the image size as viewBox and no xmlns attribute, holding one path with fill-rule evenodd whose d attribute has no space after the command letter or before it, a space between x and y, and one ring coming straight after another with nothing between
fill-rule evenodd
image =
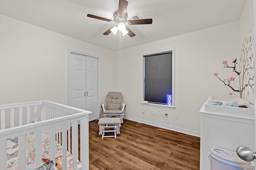
<instances>
[{"instance_id":1,"label":"white diaper pail in front of the dresser, bottom right","mask_svg":"<svg viewBox=\"0 0 256 170\"><path fill-rule=\"evenodd\" d=\"M254 162L239 158L235 151L212 148L210 150L211 170L255 170Z\"/></svg>"}]
</instances>

